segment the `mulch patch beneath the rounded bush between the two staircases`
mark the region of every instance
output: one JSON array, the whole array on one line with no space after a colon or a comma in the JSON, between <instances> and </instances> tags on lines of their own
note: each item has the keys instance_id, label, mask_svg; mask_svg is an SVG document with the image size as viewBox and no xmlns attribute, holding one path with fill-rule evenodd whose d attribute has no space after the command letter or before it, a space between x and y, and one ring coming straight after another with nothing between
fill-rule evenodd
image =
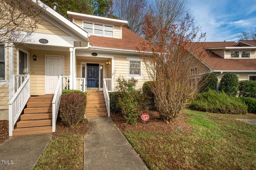
<instances>
[{"instance_id":1,"label":"mulch patch beneath the rounded bush between the two staircases","mask_svg":"<svg viewBox=\"0 0 256 170\"><path fill-rule=\"evenodd\" d=\"M69 134L86 134L89 131L89 122L84 120L78 123L74 127L68 127L61 121L56 123L56 131L52 134L53 138L65 136Z\"/></svg>"}]
</instances>

